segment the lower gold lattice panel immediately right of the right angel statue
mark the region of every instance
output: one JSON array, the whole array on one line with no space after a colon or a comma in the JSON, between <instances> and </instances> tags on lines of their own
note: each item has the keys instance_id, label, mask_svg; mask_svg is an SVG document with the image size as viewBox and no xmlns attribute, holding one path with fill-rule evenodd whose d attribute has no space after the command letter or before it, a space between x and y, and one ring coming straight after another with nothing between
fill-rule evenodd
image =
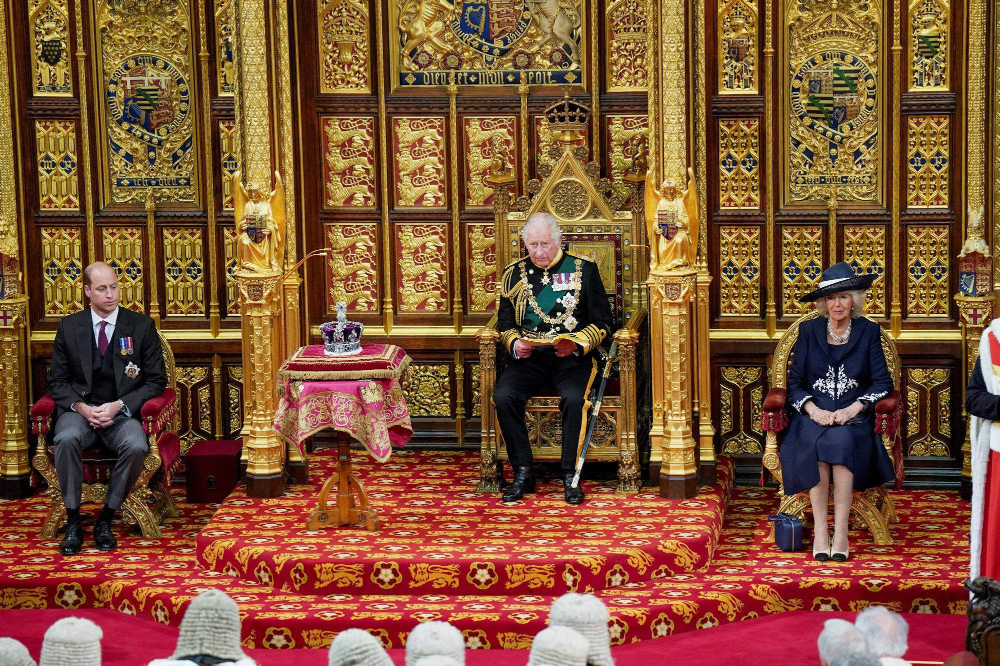
<instances>
[{"instance_id":1,"label":"lower gold lattice panel immediately right of the right angel statue","mask_svg":"<svg viewBox=\"0 0 1000 666\"><path fill-rule=\"evenodd\" d=\"M760 227L719 227L719 298L723 315L760 315Z\"/></svg>"}]
</instances>

